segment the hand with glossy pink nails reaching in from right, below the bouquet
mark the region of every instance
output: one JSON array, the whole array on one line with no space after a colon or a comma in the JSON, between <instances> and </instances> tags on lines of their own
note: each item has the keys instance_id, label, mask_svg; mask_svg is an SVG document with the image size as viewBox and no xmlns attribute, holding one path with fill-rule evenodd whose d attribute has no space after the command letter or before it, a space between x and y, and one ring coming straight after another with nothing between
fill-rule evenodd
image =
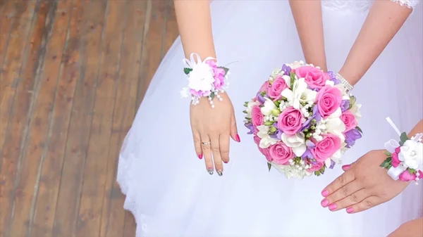
<instances>
[{"instance_id":1,"label":"hand with glossy pink nails reaching in from right, below the bouquet","mask_svg":"<svg viewBox=\"0 0 423 237\"><path fill-rule=\"evenodd\" d=\"M385 203L401 193L409 182L395 181L380 167L386 159L384 150L372 150L351 165L321 192L323 207L331 211L347 208L348 213L362 212Z\"/></svg>"}]
</instances>

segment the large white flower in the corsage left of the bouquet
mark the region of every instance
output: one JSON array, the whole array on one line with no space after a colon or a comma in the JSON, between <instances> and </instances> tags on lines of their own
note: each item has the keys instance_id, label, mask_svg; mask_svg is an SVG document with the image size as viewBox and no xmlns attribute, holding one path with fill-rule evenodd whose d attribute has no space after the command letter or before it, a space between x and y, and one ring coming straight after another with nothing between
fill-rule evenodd
<instances>
[{"instance_id":1,"label":"large white flower in the corsage left of the bouquet","mask_svg":"<svg viewBox=\"0 0 423 237\"><path fill-rule=\"evenodd\" d=\"M214 82L214 73L207 63L192 65L192 71L188 77L188 87L195 91L210 91Z\"/></svg>"}]
</instances>

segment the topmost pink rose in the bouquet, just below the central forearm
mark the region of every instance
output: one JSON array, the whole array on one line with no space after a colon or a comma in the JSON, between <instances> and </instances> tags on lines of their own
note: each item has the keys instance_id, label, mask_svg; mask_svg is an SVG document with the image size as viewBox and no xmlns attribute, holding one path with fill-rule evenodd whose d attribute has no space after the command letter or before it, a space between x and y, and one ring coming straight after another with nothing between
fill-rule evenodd
<instances>
[{"instance_id":1,"label":"topmost pink rose in the bouquet, just below the central forearm","mask_svg":"<svg viewBox=\"0 0 423 237\"><path fill-rule=\"evenodd\" d=\"M326 81L331 78L321 69L310 66L296 68L295 75L299 78L304 77L305 83L307 83L310 89L321 89L321 87L326 85Z\"/></svg>"}]
</instances>

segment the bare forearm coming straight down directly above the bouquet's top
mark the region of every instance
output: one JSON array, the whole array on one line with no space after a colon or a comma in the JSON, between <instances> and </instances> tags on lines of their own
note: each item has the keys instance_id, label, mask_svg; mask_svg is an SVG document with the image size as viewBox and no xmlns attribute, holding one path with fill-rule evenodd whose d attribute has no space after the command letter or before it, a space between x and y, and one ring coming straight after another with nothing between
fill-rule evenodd
<instances>
[{"instance_id":1,"label":"bare forearm coming straight down directly above the bouquet's top","mask_svg":"<svg viewBox=\"0 0 423 237\"><path fill-rule=\"evenodd\" d=\"M321 1L290 0L289 3L305 60L326 71Z\"/></svg>"}]
</instances>

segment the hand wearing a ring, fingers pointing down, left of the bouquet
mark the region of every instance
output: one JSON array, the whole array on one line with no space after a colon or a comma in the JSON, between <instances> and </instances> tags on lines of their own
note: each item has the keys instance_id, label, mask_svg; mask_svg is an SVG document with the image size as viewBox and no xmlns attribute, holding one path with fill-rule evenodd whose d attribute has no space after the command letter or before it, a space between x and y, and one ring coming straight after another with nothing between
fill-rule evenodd
<instances>
[{"instance_id":1,"label":"hand wearing a ring, fingers pointing down, left of the bouquet","mask_svg":"<svg viewBox=\"0 0 423 237\"><path fill-rule=\"evenodd\" d=\"M223 100L214 99L216 101L214 108L210 106L207 97L202 97L199 104L191 105L190 120L198 158L202 159L204 156L209 174L213 174L215 168L217 174L221 176L222 161L229 162L229 136L238 142L240 136L231 99L226 93L219 95Z\"/></svg>"}]
</instances>

